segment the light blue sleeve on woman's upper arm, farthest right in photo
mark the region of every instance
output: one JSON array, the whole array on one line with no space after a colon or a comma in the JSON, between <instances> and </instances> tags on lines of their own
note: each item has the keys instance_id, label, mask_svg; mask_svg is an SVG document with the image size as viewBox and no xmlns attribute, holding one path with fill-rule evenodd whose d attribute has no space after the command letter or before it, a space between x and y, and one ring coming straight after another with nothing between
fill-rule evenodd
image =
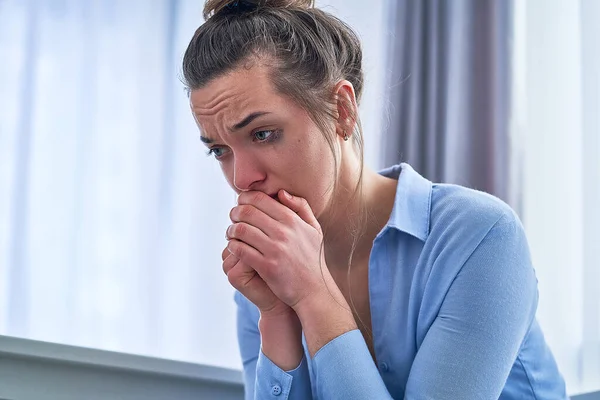
<instances>
[{"instance_id":1,"label":"light blue sleeve on woman's upper arm, farthest right in photo","mask_svg":"<svg viewBox=\"0 0 600 400\"><path fill-rule=\"evenodd\" d=\"M499 398L537 299L523 228L505 215L450 285L413 362L406 398Z\"/></svg>"}]
</instances>

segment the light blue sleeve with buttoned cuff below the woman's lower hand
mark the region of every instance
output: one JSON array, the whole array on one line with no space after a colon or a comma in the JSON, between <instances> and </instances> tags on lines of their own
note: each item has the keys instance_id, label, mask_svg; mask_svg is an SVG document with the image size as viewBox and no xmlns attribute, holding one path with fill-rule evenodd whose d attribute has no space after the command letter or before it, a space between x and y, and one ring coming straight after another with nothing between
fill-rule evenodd
<instances>
[{"instance_id":1,"label":"light blue sleeve with buttoned cuff below the woman's lower hand","mask_svg":"<svg viewBox=\"0 0 600 400\"><path fill-rule=\"evenodd\" d=\"M239 292L237 303L237 334L242 357L245 400L310 400L312 399L308 363L284 371L260 349L259 312Z\"/></svg>"}]
</instances>

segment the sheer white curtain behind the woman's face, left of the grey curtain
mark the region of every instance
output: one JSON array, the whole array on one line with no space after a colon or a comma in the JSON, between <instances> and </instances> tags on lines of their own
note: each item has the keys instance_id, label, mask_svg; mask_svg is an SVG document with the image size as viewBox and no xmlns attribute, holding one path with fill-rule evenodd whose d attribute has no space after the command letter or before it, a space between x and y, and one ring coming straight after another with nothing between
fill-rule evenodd
<instances>
[{"instance_id":1,"label":"sheer white curtain behind the woman's face, left of the grey curtain","mask_svg":"<svg viewBox=\"0 0 600 400\"><path fill-rule=\"evenodd\" d=\"M235 196L178 79L203 3L0 1L0 334L241 366L220 260ZM378 167L383 4L318 3L371 43Z\"/></svg>"}]
</instances>

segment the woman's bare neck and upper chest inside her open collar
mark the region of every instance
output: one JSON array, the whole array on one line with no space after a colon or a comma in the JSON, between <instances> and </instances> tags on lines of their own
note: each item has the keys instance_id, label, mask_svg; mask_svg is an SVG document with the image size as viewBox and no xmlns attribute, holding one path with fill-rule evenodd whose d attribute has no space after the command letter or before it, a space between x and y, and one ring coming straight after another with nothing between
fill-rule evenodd
<instances>
[{"instance_id":1,"label":"woman's bare neck and upper chest inside her open collar","mask_svg":"<svg viewBox=\"0 0 600 400\"><path fill-rule=\"evenodd\" d=\"M358 171L340 176L339 187L319 222L325 234L325 261L333 272L346 271L352 264L368 263L373 240L385 226L394 205L396 181L366 169L361 187Z\"/></svg>"}]
</instances>

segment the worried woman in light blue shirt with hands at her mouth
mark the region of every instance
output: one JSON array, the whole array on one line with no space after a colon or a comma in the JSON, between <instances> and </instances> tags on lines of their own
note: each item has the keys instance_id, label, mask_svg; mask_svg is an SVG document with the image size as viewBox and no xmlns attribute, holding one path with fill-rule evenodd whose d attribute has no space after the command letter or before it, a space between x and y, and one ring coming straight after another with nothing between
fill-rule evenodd
<instances>
[{"instance_id":1,"label":"worried woman in light blue shirt with hands at her mouth","mask_svg":"<svg viewBox=\"0 0 600 400\"><path fill-rule=\"evenodd\" d=\"M183 75L239 194L246 399L563 399L500 200L363 165L355 33L311 0L209 0Z\"/></svg>"}]
</instances>

